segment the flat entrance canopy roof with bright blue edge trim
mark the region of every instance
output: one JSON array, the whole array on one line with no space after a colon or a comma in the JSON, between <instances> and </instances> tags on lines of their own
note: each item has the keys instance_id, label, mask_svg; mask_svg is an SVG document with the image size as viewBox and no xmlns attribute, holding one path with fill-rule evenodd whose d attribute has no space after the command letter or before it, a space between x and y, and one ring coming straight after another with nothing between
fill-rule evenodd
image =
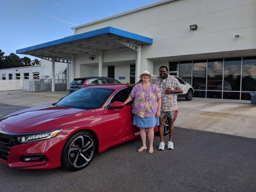
<instances>
[{"instance_id":1,"label":"flat entrance canopy roof with bright blue edge trim","mask_svg":"<svg viewBox=\"0 0 256 192\"><path fill-rule=\"evenodd\" d=\"M109 26L32 47L18 49L16 53L32 55L39 58L71 59L72 55L84 54L85 52L92 53L93 51L126 48L116 40L137 45L149 45L153 43L152 38Z\"/></svg>"}]
</instances>

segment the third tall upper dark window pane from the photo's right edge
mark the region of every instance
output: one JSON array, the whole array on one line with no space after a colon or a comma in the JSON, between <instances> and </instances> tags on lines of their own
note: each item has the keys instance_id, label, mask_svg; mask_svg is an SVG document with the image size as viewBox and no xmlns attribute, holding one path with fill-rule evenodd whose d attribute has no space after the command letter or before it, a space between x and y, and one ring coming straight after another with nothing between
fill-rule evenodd
<instances>
[{"instance_id":1,"label":"third tall upper dark window pane from the photo's right edge","mask_svg":"<svg viewBox=\"0 0 256 192\"><path fill-rule=\"evenodd\" d=\"M207 70L208 70L207 90L220 90L221 91L222 90L223 59L208 60L208 69ZM207 97L208 97L208 94L207 94Z\"/></svg>"}]
</instances>

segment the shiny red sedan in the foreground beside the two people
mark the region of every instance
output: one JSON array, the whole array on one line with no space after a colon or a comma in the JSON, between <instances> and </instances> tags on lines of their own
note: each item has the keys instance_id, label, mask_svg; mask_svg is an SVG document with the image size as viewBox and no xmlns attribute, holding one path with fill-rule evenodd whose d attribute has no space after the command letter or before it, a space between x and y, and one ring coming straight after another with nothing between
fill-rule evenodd
<instances>
[{"instance_id":1,"label":"shiny red sedan in the foreground beside the two people","mask_svg":"<svg viewBox=\"0 0 256 192\"><path fill-rule=\"evenodd\" d=\"M85 168L96 152L139 136L132 104L122 103L130 92L125 84L87 86L57 103L2 118L0 162L12 168Z\"/></svg>"}]
</instances>

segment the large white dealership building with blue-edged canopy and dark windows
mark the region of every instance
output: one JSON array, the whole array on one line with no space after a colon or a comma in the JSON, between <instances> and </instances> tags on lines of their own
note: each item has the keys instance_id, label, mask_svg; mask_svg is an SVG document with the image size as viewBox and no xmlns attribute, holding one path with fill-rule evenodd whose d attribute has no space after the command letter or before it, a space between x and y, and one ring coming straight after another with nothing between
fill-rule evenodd
<instances>
[{"instance_id":1,"label":"large white dealership building with blue-edged canopy and dark windows","mask_svg":"<svg viewBox=\"0 0 256 192\"><path fill-rule=\"evenodd\" d=\"M55 62L68 63L69 82L134 83L165 65L195 97L249 100L256 91L256 0L164 0L72 29L73 36L16 53L51 61L53 74Z\"/></svg>"}]
</instances>

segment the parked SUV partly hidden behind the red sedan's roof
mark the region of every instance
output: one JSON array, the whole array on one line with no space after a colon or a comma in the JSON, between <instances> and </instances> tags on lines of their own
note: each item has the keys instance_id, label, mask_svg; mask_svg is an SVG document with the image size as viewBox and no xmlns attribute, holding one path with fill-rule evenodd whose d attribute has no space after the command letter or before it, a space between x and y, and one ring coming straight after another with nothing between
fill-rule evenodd
<instances>
[{"instance_id":1,"label":"parked SUV partly hidden behind the red sedan's roof","mask_svg":"<svg viewBox=\"0 0 256 192\"><path fill-rule=\"evenodd\" d=\"M81 77L75 78L69 85L69 92L73 92L91 84L121 84L120 81L110 77Z\"/></svg>"}]
</instances>

